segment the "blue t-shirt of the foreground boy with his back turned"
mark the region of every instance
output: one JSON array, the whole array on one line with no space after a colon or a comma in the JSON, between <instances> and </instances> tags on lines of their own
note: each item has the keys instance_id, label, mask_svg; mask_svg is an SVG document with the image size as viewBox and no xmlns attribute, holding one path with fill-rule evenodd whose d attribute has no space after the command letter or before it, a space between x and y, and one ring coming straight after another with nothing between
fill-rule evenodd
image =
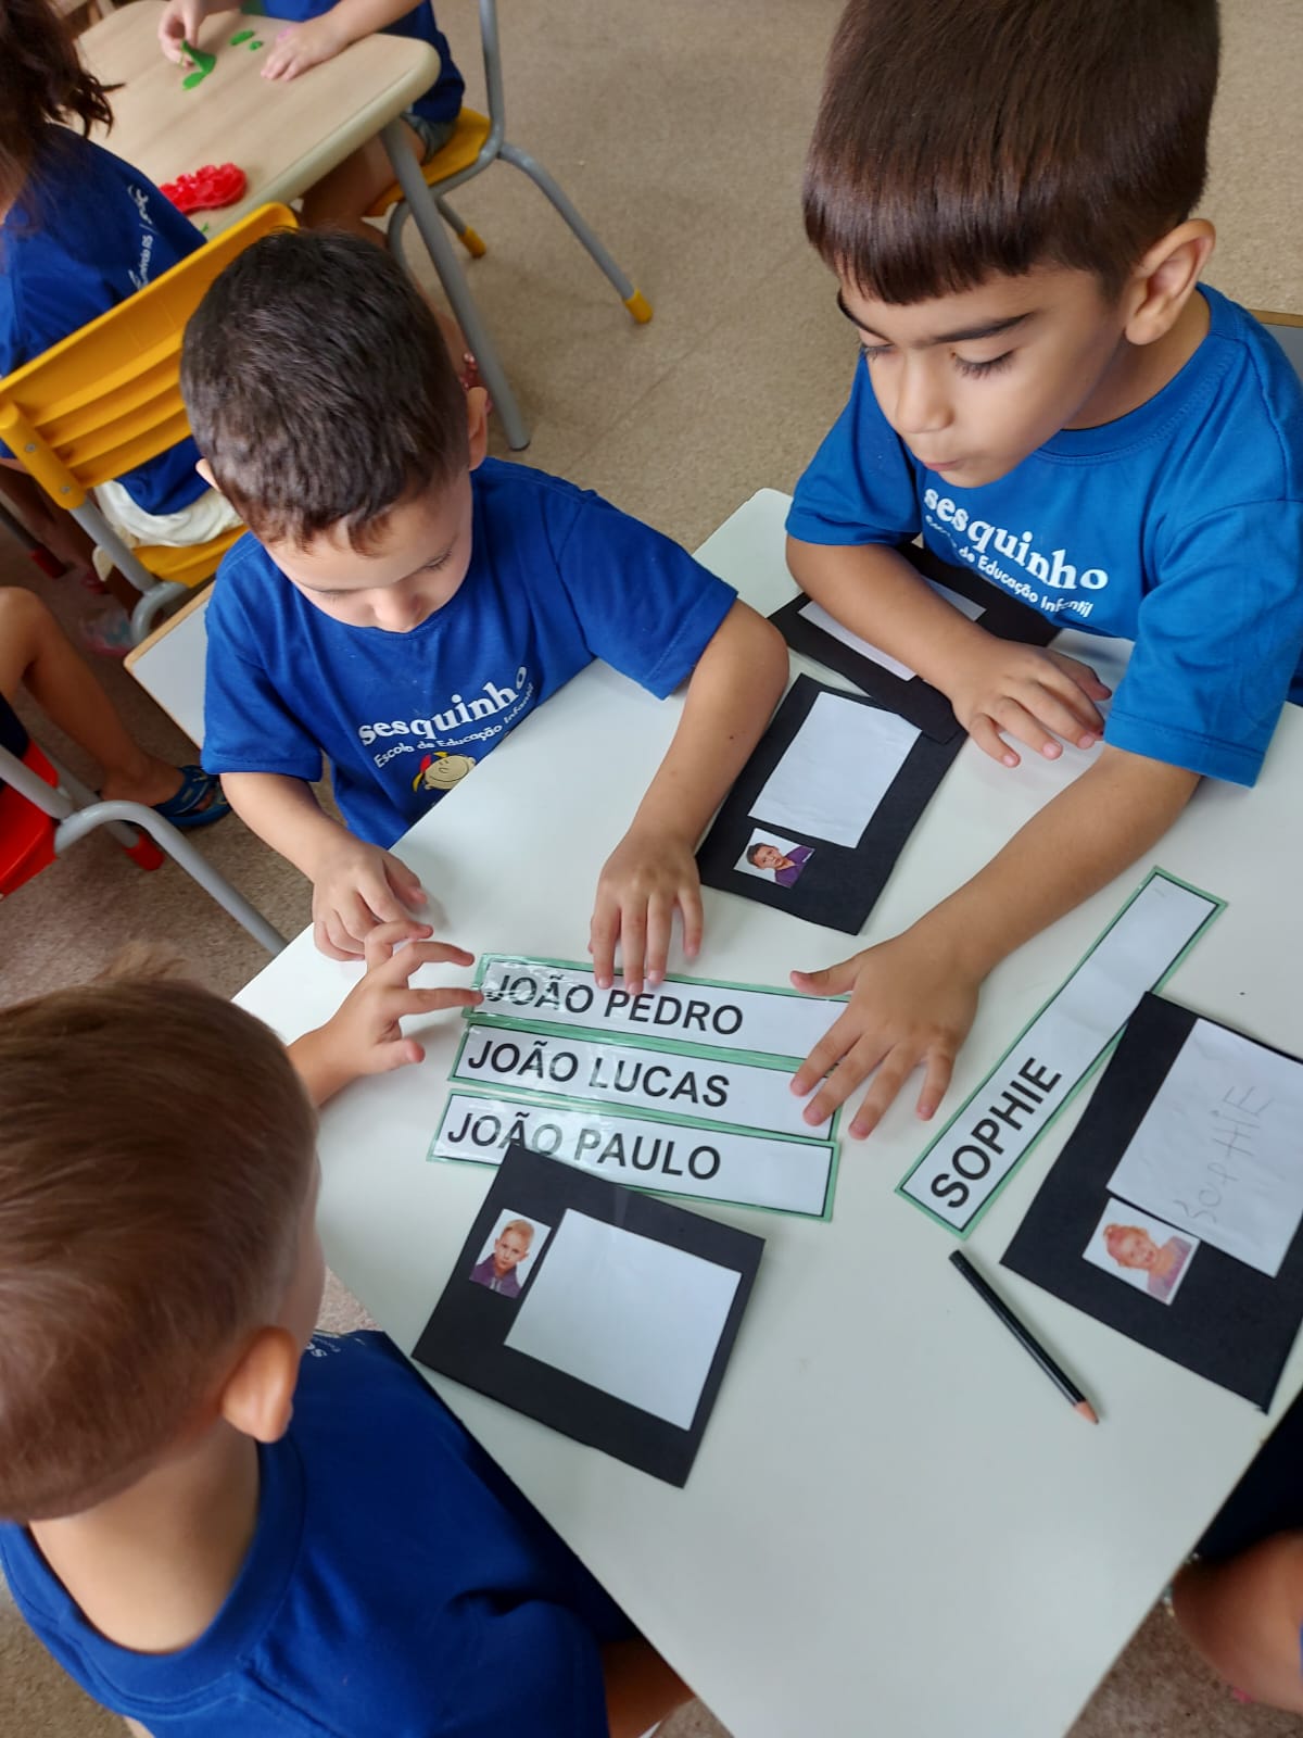
<instances>
[{"instance_id":1,"label":"blue t-shirt of the foreground boy with his back turned","mask_svg":"<svg viewBox=\"0 0 1303 1738\"><path fill-rule=\"evenodd\" d=\"M208 1629L175 1653L94 1630L24 1528L0 1568L64 1670L153 1738L608 1738L618 1606L380 1333L316 1335Z\"/></svg>"}]
</instances>

